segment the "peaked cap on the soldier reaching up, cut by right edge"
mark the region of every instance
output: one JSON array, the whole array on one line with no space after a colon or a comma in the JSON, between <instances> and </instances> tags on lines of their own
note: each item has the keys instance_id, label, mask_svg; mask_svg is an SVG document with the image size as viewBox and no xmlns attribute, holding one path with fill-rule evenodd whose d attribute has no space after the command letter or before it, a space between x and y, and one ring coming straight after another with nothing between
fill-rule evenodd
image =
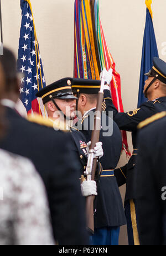
<instances>
[{"instance_id":1,"label":"peaked cap on the soldier reaching up, cut by right edge","mask_svg":"<svg viewBox=\"0 0 166 256\"><path fill-rule=\"evenodd\" d=\"M153 67L145 74L149 77L157 77L163 83L166 83L166 63L160 58L153 58Z\"/></svg>"}]
</instances>

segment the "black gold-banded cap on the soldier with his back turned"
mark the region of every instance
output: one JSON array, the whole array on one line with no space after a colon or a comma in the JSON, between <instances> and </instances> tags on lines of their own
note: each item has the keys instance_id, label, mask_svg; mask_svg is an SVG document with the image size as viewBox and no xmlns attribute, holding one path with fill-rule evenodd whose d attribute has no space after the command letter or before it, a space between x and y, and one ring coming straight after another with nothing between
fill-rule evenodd
<instances>
[{"instance_id":1,"label":"black gold-banded cap on the soldier with his back turned","mask_svg":"<svg viewBox=\"0 0 166 256\"><path fill-rule=\"evenodd\" d=\"M105 84L106 83L107 82L105 82ZM74 93L96 94L100 91L100 86L100 80L73 78L71 87Z\"/></svg>"}]
</instances>

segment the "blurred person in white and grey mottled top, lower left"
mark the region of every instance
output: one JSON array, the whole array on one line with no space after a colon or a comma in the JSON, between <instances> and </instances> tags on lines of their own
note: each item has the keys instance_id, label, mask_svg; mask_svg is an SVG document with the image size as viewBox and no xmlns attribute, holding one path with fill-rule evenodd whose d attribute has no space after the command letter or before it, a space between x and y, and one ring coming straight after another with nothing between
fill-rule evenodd
<instances>
[{"instance_id":1,"label":"blurred person in white and grey mottled top, lower left","mask_svg":"<svg viewBox=\"0 0 166 256\"><path fill-rule=\"evenodd\" d=\"M0 64L0 97L4 74ZM4 134L0 105L0 139ZM24 157L0 149L0 244L54 244L43 182Z\"/></svg>"}]
</instances>

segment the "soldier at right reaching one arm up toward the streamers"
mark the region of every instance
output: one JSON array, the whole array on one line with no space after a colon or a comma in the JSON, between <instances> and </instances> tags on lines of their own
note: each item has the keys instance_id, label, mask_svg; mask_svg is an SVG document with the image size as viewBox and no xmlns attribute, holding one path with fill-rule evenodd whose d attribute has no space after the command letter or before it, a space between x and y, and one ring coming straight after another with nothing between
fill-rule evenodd
<instances>
[{"instance_id":1,"label":"soldier at right reaching one arm up toward the streamers","mask_svg":"<svg viewBox=\"0 0 166 256\"><path fill-rule=\"evenodd\" d=\"M112 103L110 88L105 90L105 106L106 111L113 111L113 120L116 122L120 130L132 132L133 153L127 165L115 170L118 185L126 183L125 210L127 217L128 240L129 244L135 244L133 227L136 226L136 218L132 214L133 199L135 198L134 189L134 169L136 165L136 157L138 154L137 146L137 126L139 122L146 120L152 115L166 110L166 63L160 58L153 58L152 69L145 74L148 79L144 86L144 95L148 101L142 104L138 109L118 113L116 107Z\"/></svg>"}]
</instances>

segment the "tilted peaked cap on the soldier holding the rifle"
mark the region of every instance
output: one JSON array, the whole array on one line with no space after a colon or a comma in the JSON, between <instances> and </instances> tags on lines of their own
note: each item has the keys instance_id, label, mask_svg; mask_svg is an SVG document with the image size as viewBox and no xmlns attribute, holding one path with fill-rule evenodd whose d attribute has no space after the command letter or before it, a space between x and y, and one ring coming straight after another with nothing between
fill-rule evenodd
<instances>
[{"instance_id":1,"label":"tilted peaked cap on the soldier holding the rifle","mask_svg":"<svg viewBox=\"0 0 166 256\"><path fill-rule=\"evenodd\" d=\"M63 78L58 80L51 85L46 86L42 90L38 91L36 96L42 98L43 104L50 101L50 96L53 96L54 99L74 99L77 98L74 96L71 85L73 78Z\"/></svg>"}]
</instances>

